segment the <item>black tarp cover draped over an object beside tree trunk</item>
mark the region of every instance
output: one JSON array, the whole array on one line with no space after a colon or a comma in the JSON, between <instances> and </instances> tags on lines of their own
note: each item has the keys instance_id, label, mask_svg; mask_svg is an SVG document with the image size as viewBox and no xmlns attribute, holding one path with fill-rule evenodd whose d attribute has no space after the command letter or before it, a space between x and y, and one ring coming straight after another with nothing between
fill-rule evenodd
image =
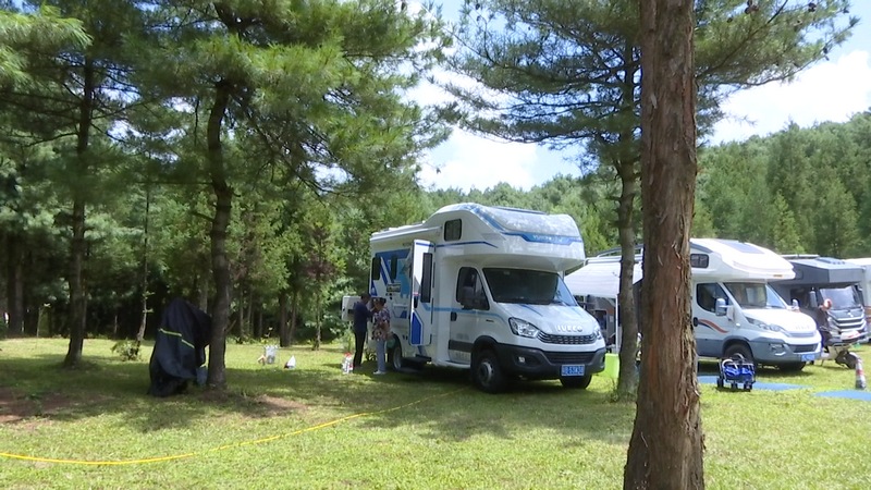
<instances>
[{"instance_id":1,"label":"black tarp cover draped over an object beside tree trunk","mask_svg":"<svg viewBox=\"0 0 871 490\"><path fill-rule=\"evenodd\" d=\"M182 298L173 299L163 311L155 335L155 350L148 369L151 387L148 394L169 396L181 393L197 379L197 368L206 363L206 345L211 333L211 318Z\"/></svg>"}]
</instances>

